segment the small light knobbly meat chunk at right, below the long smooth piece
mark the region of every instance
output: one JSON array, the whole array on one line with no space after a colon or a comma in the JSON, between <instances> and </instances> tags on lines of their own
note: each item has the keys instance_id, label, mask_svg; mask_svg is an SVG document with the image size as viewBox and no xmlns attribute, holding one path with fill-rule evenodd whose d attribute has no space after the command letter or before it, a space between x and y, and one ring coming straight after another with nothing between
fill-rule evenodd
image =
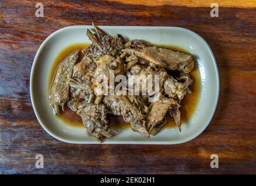
<instances>
[{"instance_id":1,"label":"small light knobbly meat chunk at right, below the long smooth piece","mask_svg":"<svg viewBox=\"0 0 256 186\"><path fill-rule=\"evenodd\" d=\"M169 98L183 99L185 95L185 87L183 83L178 82L172 76L168 76L163 84L164 93L169 96Z\"/></svg>"}]
</instances>

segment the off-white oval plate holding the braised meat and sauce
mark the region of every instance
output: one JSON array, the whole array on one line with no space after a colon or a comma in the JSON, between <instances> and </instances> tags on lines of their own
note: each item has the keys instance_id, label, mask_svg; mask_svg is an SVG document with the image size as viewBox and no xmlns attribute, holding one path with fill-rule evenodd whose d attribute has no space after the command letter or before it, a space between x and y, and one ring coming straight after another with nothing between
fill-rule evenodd
<instances>
[{"instance_id":1,"label":"off-white oval plate holding the braised meat and sauce","mask_svg":"<svg viewBox=\"0 0 256 186\"><path fill-rule=\"evenodd\" d=\"M71 127L55 117L49 105L48 78L59 52L69 45L89 43L86 29L91 26L70 26L55 31L45 39L34 58L30 74L30 95L36 117L48 134L74 144L99 144L86 134L84 128ZM124 129L103 144L180 144L197 137L210 123L219 98L219 73L212 50L198 34L179 27L100 26L109 35L122 34L129 40L141 39L158 45L181 47L198 56L201 75L201 95L197 109L182 132L177 128L163 130L156 136L144 138L130 128Z\"/></svg>"}]
</instances>

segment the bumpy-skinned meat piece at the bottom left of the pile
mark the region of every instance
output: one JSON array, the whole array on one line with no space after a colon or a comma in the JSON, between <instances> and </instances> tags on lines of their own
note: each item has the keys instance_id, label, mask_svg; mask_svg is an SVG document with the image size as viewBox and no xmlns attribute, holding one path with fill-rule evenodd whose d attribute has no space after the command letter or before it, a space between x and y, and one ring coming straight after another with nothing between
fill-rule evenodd
<instances>
[{"instance_id":1,"label":"bumpy-skinned meat piece at the bottom left of the pile","mask_svg":"<svg viewBox=\"0 0 256 186\"><path fill-rule=\"evenodd\" d=\"M110 138L117 134L108 126L107 108L103 104L87 103L78 110L78 115L82 117L87 134L93 135L100 142L102 142L103 137Z\"/></svg>"}]
</instances>

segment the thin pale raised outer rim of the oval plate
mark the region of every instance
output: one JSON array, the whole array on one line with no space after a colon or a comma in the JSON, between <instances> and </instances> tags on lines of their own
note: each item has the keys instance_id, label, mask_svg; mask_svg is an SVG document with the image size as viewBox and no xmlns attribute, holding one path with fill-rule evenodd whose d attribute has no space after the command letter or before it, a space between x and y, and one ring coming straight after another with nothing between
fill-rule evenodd
<instances>
[{"instance_id":1,"label":"thin pale raised outer rim of the oval plate","mask_svg":"<svg viewBox=\"0 0 256 186\"><path fill-rule=\"evenodd\" d=\"M50 130L48 130L48 128L44 125L43 121L41 121L40 116L37 113L36 110L36 103L34 101L34 96L33 96L33 76L34 76L34 68L36 66L36 62L38 60L38 56L40 55L42 49L44 48L44 45L47 44L47 42L54 37L54 35L64 31L64 30L68 30L68 29L73 29L73 28L84 28L84 27L92 27L90 25L76 25L76 26L67 26L67 27L63 27L60 28L56 31L54 31L53 33L51 33L50 35L48 35L47 38L45 38L45 40L42 42L42 44L40 45L40 47L38 48L36 55L34 57L33 60L33 64L31 66L31 71L30 71L30 85L29 85L29 90L30 90L30 100L32 103L32 107L34 110L34 113L36 115L36 118L38 120L38 122L40 123L41 127L43 127L43 129L50 134L52 137L54 137L55 139L62 141L62 142L67 142L69 144L151 144L151 145L174 145L174 144L183 144L185 142L191 141L194 138L197 138L211 123L213 115L216 112L216 108L218 105L218 101L219 101L219 89L220 89L220 81L219 81L219 70L218 70L218 65L216 63L216 59L215 56L212 52L211 47L209 46L209 44L204 40L204 38L201 37L201 35L195 33L194 31L191 31L187 28L183 28L183 27L167 27L167 26L99 26L100 28L110 28L110 27L121 27L121 28L135 28L135 29L139 29L139 28L173 28L173 29L180 29L180 30L184 30L188 33L190 33L191 35L194 35L195 37L199 38L199 40L201 40L205 45L206 48L208 50L208 52L211 55L212 61L214 62L214 67L215 67L215 74L216 74L216 98L214 100L214 105L213 105L213 109L211 112L211 116L208 117L208 120L206 122L206 124L204 125L204 127L201 128L201 130L198 130L197 132L194 133L194 135L191 135L190 137L187 137L183 140L180 140L178 142L170 142L170 141L104 141L103 143L99 143L98 141L75 141L75 140L66 140L65 138L59 137L58 135L53 134Z\"/></svg>"}]
</instances>

